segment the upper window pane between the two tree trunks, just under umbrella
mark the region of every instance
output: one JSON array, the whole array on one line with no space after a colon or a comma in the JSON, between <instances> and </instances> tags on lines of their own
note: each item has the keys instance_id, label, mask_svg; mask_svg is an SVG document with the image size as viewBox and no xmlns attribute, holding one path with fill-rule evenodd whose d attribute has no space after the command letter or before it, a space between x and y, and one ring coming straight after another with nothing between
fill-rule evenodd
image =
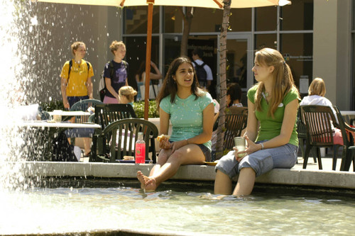
<instances>
[{"instance_id":1,"label":"upper window pane between the two tree trunks, just under umbrella","mask_svg":"<svg viewBox=\"0 0 355 236\"><path fill-rule=\"evenodd\" d=\"M186 10L190 11L190 7ZM219 32L222 24L223 10L194 8L190 32Z\"/></svg>"}]
</instances>

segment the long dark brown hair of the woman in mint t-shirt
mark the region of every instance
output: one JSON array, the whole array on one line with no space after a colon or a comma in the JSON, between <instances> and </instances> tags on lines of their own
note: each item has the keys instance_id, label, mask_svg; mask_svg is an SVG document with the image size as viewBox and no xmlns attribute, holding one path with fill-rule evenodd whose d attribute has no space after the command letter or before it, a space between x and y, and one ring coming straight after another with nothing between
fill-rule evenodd
<instances>
[{"instance_id":1,"label":"long dark brown hair of the woman in mint t-shirt","mask_svg":"<svg viewBox=\"0 0 355 236\"><path fill-rule=\"evenodd\" d=\"M165 98L165 96L171 95L170 103L175 103L175 96L176 93L178 92L178 85L176 84L175 80L173 79L173 76L175 76L176 71L180 67L180 64L182 63L188 63L191 65L193 72L194 72L194 79L191 85L191 92L197 97L202 96L202 89L199 89L198 87L198 81L197 81L197 76L195 72L195 68L192 64L192 62L187 58L187 57L178 57L173 60L173 62L170 63L168 73L165 75L165 79L163 82L163 86L160 89L160 92L157 97L157 102L158 106L160 105L160 101Z\"/></svg>"}]
</instances>

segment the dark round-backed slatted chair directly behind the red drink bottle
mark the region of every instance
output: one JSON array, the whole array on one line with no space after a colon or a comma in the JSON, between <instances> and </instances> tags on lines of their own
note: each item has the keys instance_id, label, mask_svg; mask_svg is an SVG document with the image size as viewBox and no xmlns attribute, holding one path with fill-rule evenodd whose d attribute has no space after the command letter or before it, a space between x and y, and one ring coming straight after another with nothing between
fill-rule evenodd
<instances>
[{"instance_id":1,"label":"dark round-backed slatted chair directly behind the red drink bottle","mask_svg":"<svg viewBox=\"0 0 355 236\"><path fill-rule=\"evenodd\" d=\"M107 125L97 136L97 157L95 160L116 162L124 156L134 156L136 137L143 133L146 142L146 160L149 152L152 153L153 163L156 162L155 138L158 137L158 128L148 120L139 118L126 118L116 120Z\"/></svg>"}]
</instances>

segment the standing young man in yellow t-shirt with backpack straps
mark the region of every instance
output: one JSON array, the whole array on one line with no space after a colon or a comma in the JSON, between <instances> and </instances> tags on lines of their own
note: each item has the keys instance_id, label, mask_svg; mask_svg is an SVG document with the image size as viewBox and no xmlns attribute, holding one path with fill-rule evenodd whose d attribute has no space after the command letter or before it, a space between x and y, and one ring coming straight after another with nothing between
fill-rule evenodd
<instances>
[{"instance_id":1,"label":"standing young man in yellow t-shirt with backpack straps","mask_svg":"<svg viewBox=\"0 0 355 236\"><path fill-rule=\"evenodd\" d=\"M74 58L65 62L60 77L62 99L64 107L70 107L77 101L93 99L92 77L94 72L90 62L83 60L86 46L82 42L75 42L70 46Z\"/></svg>"}]
</instances>

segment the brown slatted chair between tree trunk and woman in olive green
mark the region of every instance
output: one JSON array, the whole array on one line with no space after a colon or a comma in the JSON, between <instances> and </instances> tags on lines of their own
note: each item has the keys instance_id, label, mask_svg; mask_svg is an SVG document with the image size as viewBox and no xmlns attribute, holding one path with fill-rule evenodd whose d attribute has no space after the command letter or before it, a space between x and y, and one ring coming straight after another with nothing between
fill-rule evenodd
<instances>
[{"instance_id":1,"label":"brown slatted chair between tree trunk and woman in olive green","mask_svg":"<svg viewBox=\"0 0 355 236\"><path fill-rule=\"evenodd\" d=\"M234 137L241 136L247 120L248 108L246 107L231 107L226 110L223 150L231 150L234 147Z\"/></svg>"}]
</instances>

